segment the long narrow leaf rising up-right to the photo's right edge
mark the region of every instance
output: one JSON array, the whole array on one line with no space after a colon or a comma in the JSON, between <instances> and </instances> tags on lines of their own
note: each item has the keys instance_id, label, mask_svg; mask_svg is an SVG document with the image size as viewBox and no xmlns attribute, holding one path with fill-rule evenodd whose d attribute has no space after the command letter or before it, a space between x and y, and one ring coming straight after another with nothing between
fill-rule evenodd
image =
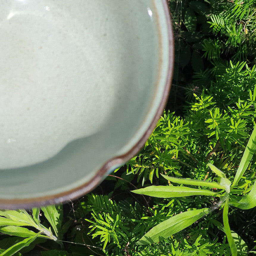
<instances>
[{"instance_id":1,"label":"long narrow leaf rising up-right to the photo's right edge","mask_svg":"<svg viewBox=\"0 0 256 256\"><path fill-rule=\"evenodd\" d=\"M241 162L240 162L237 172L235 174L235 179L234 179L234 182L233 182L231 188L234 187L239 182L241 177L243 176L244 172L246 171L246 169L249 165L249 162L252 159L253 154L255 153L255 150L256 150L256 125L252 131L252 135L250 136L250 139L249 139L247 146L244 150L243 157L241 159Z\"/></svg>"}]
</instances>

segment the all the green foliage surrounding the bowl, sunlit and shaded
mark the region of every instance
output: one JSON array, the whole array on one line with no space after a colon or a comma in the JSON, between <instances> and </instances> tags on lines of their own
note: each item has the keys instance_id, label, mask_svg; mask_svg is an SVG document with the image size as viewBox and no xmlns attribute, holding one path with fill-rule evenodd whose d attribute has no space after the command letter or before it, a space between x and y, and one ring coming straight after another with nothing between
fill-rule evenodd
<instances>
[{"instance_id":1,"label":"all the green foliage surrounding the bowl, sunlit and shaded","mask_svg":"<svg viewBox=\"0 0 256 256\"><path fill-rule=\"evenodd\" d=\"M255 1L168 3L171 111L126 171L68 210L0 211L0 255L255 253Z\"/></svg>"}]
</instances>

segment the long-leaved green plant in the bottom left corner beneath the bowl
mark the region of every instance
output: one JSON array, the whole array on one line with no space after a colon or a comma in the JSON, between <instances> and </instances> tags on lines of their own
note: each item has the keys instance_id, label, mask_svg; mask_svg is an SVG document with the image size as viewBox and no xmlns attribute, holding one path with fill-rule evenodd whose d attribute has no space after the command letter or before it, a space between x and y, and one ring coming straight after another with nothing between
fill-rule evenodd
<instances>
[{"instance_id":1,"label":"long-leaved green plant in the bottom left corner beneath the bowl","mask_svg":"<svg viewBox=\"0 0 256 256\"><path fill-rule=\"evenodd\" d=\"M41 223L40 208L33 208L32 215L26 210L0 211L0 232L11 236L1 241L1 256L14 255L24 247L35 246L45 239L55 241L63 247L61 240L65 226L62 227L62 206L50 205L42 207L41 210L50 227ZM12 244L13 242L16 243ZM8 246L9 244L12 245Z\"/></svg>"}]
</instances>

